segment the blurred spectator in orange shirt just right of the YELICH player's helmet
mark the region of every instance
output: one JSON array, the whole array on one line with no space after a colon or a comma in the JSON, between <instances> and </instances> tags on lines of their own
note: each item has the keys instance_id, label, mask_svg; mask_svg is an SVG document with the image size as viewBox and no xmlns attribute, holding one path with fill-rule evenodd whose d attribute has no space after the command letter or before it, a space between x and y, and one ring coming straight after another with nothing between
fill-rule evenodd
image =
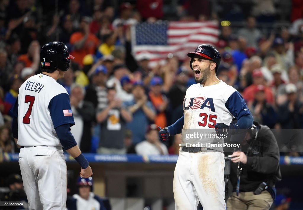
<instances>
[{"instance_id":1,"label":"blurred spectator in orange shirt just right of the YELICH player's helmet","mask_svg":"<svg viewBox=\"0 0 303 210\"><path fill-rule=\"evenodd\" d=\"M71 52L74 55L74 62L82 67L82 60L87 54L95 54L100 40L89 32L91 18L83 16L80 22L79 31L72 34L70 44L73 47Z\"/></svg>"}]
</instances>

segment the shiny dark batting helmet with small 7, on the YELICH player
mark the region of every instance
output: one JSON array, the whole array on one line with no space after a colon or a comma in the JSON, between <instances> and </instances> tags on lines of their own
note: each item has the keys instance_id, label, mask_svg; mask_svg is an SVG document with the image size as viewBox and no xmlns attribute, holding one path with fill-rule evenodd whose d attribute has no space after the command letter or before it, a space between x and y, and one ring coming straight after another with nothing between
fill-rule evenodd
<instances>
[{"instance_id":1,"label":"shiny dark batting helmet with small 7, on the YELICH player","mask_svg":"<svg viewBox=\"0 0 303 210\"><path fill-rule=\"evenodd\" d=\"M70 59L74 58L68 54L68 48L63 42L49 42L43 45L40 51L41 69L50 73L56 69L67 71Z\"/></svg>"}]
</instances>

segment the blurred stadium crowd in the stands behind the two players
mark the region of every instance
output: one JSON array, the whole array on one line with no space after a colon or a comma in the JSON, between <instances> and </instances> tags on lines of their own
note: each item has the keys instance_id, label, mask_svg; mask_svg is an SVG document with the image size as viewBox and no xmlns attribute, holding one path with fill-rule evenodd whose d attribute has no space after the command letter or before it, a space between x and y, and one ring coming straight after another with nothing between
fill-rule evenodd
<instances>
[{"instance_id":1,"label":"blurred stadium crowd in the stands behind the two players","mask_svg":"<svg viewBox=\"0 0 303 210\"><path fill-rule=\"evenodd\" d=\"M261 1L252 2L262 8ZM289 19L291 27L264 33L258 24L275 21L275 1L264 2L271 14L253 7L242 28L233 28L232 21L220 26L215 46L221 53L217 76L241 93L261 124L303 128L303 3L292 1L296 13ZM165 18L161 0L142 0L136 6L115 3L0 0L3 152L18 152L10 128L10 109L18 89L40 73L41 46L58 40L75 57L59 83L70 95L76 123L72 134L83 152L178 154L180 136L165 145L158 140L157 126L166 127L182 116L185 91L194 84L189 60L172 56L164 65L151 66L148 56L135 60L131 44L132 25L172 18ZM222 18L209 10L191 11L191 3L178 1L174 20L215 19L220 24ZM210 7L208 1L199 4ZM294 149L289 155L300 152Z\"/></svg>"}]
</instances>

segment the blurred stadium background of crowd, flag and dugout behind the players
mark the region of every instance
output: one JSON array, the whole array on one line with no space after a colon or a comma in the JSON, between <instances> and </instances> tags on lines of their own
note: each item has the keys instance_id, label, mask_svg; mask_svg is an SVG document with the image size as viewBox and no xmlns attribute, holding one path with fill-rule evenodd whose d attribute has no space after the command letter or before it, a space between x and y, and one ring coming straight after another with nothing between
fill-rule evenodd
<instances>
[{"instance_id":1,"label":"blurred stadium background of crowd, flag and dugout behind the players","mask_svg":"<svg viewBox=\"0 0 303 210\"><path fill-rule=\"evenodd\" d=\"M22 82L40 72L41 46L55 40L76 57L58 82L70 95L72 133L91 163L94 192L112 209L174 209L180 136L163 144L149 125L182 115L194 83L186 53L199 44L220 51L218 78L242 94L255 120L303 128L301 0L0 0L1 200L8 176L20 174L10 109ZM146 107L133 110L136 103ZM104 117L109 106L115 111ZM303 152L288 149L280 152L276 187L288 209L299 210ZM79 166L65 157L72 196Z\"/></svg>"}]
</instances>

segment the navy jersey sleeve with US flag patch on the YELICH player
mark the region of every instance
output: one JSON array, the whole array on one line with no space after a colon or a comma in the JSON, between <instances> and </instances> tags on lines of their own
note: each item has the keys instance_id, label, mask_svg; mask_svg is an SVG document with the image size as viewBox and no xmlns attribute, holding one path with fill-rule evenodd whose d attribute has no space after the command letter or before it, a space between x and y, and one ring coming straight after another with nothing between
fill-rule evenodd
<instances>
[{"instance_id":1,"label":"navy jersey sleeve with US flag patch on the YELICH player","mask_svg":"<svg viewBox=\"0 0 303 210\"><path fill-rule=\"evenodd\" d=\"M70 114L72 108L67 93L54 96L48 104L48 109L55 129L63 124L70 124L70 126L75 124L74 117ZM70 111L70 113L64 116L63 110Z\"/></svg>"}]
</instances>

